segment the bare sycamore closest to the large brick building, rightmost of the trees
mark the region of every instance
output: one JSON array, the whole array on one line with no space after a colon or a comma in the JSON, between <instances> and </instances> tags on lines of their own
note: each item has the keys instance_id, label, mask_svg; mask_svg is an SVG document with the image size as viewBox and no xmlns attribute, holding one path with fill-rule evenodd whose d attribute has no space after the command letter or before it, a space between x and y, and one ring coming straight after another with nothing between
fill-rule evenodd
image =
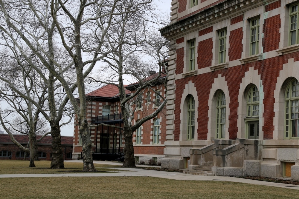
<instances>
[{"instance_id":1,"label":"bare sycamore closest to the large brick building, rightmost of the trees","mask_svg":"<svg viewBox=\"0 0 299 199\"><path fill-rule=\"evenodd\" d=\"M136 5L138 1L126 1L120 11L122 14L113 16L113 28L107 31L104 43L109 53L100 60L101 78L93 79L118 87L123 126L99 125L116 127L123 131L125 141L123 167L135 167L134 131L144 122L156 117L167 103L166 98L152 88L157 84L167 88L166 59L171 46L165 38L156 33L157 27L164 26L165 23L161 22L161 15L157 14L152 3L142 4L138 10L136 10ZM149 71L153 70L156 74L148 78ZM106 81L103 81L103 73L109 74ZM133 85L135 89L130 96L126 95L124 85L124 81L128 79L138 82ZM138 103L145 90L152 90L155 95L159 95L161 103L157 104L153 112L144 114L143 118L133 124L134 115L137 114L135 104Z\"/></svg>"}]
</instances>

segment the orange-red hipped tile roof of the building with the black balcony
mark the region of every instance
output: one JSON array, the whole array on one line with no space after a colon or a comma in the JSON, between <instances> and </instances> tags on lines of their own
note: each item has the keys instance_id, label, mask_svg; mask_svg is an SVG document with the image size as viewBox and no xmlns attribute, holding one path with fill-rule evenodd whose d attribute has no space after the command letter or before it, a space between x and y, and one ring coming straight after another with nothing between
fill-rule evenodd
<instances>
[{"instance_id":1,"label":"orange-red hipped tile roof of the building with the black balcony","mask_svg":"<svg viewBox=\"0 0 299 199\"><path fill-rule=\"evenodd\" d=\"M126 86L127 85L124 85L124 87ZM126 94L131 93L129 90L125 90L125 91ZM107 97L107 98L117 97L118 95L119 95L118 87L112 84L107 84L106 86L103 86L101 88L98 88L97 90L94 90L86 94L86 96Z\"/></svg>"}]
</instances>

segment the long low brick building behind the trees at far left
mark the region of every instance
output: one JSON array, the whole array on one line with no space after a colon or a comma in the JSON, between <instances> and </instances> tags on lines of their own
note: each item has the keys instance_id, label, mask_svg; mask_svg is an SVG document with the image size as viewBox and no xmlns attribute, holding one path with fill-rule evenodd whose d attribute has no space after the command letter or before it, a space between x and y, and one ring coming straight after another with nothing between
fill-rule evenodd
<instances>
[{"instance_id":1,"label":"long low brick building behind the trees at far left","mask_svg":"<svg viewBox=\"0 0 299 199\"><path fill-rule=\"evenodd\" d=\"M22 146L27 147L28 135L16 134L13 137ZM41 135L37 135L36 139L41 138ZM41 141L37 143L37 150L39 154L39 160L51 160L52 153L52 137L45 136ZM73 149L73 137L61 136L62 153L64 160L72 160ZM20 150L19 147L14 144L8 134L0 134L0 160L8 160L11 157L12 160L24 160L25 152ZM29 155L26 155L26 160L29 160Z\"/></svg>"}]
</instances>

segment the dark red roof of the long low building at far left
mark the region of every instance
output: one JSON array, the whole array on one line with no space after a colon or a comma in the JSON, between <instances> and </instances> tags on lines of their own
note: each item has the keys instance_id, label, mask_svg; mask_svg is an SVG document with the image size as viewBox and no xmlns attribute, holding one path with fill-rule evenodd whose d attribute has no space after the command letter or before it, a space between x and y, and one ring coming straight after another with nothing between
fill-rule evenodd
<instances>
[{"instance_id":1,"label":"dark red roof of the long low building at far left","mask_svg":"<svg viewBox=\"0 0 299 199\"><path fill-rule=\"evenodd\" d=\"M28 135L21 135L21 134L14 134L13 137L18 141L20 144L27 144L29 139ZM38 140L41 138L41 135L36 135L36 139ZM73 136L61 136L61 144L62 145L73 145ZM3 144L13 144L8 134L0 134L0 143ZM52 144L52 137L51 135L45 136L41 141L37 144Z\"/></svg>"}]
</instances>

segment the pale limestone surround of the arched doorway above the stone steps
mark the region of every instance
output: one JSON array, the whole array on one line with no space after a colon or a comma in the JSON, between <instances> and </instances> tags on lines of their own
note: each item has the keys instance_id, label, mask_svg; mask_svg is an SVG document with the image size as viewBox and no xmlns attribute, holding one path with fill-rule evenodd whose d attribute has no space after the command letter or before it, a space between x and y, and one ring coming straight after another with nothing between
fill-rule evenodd
<instances>
[{"instance_id":1,"label":"pale limestone surround of the arched doorway above the stone steps","mask_svg":"<svg viewBox=\"0 0 299 199\"><path fill-rule=\"evenodd\" d=\"M260 112L259 112L259 139L263 139L263 112L264 112L264 89L263 89L263 81L261 80L261 76L258 74L258 70L254 70L254 67L250 67L247 72L245 72L244 77L242 78L242 82L239 88L239 95L238 95L238 121L237 121L237 138L245 138L247 139L247 133L245 131L245 121L247 115L247 93L246 90L249 89L250 84L254 84L257 89L259 90L260 95ZM249 87L248 87L249 86Z\"/></svg>"}]
</instances>

